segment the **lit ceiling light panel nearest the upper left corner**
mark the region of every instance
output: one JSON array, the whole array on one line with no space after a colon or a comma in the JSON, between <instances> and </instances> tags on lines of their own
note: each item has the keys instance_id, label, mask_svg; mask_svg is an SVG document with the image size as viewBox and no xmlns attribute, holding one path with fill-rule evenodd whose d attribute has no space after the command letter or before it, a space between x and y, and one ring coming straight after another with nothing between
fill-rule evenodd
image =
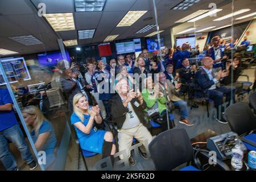
<instances>
[{"instance_id":1,"label":"lit ceiling light panel nearest the upper left corner","mask_svg":"<svg viewBox=\"0 0 256 182\"><path fill-rule=\"evenodd\" d=\"M46 19L56 32L75 30L73 13L46 14Z\"/></svg>"}]
</instances>

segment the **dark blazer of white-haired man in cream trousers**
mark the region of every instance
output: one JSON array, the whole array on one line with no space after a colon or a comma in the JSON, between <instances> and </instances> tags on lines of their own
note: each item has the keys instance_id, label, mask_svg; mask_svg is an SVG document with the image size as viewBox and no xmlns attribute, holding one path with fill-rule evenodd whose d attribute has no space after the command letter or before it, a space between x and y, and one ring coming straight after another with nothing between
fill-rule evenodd
<instances>
[{"instance_id":1,"label":"dark blazer of white-haired man in cream trousers","mask_svg":"<svg viewBox=\"0 0 256 182\"><path fill-rule=\"evenodd\" d=\"M139 107L136 107L133 103L137 101L139 103L138 98L134 98L131 100L131 105L133 106L133 109L135 113L137 114L139 121L145 125L146 122L144 121L144 114L143 110L146 109L147 105L145 102L143 102L142 105ZM115 94L110 100L109 100L109 106L111 110L112 120L117 123L117 129L121 129L123 126L123 123L126 119L126 113L129 111L127 107L123 106L123 102L119 94Z\"/></svg>"}]
</instances>

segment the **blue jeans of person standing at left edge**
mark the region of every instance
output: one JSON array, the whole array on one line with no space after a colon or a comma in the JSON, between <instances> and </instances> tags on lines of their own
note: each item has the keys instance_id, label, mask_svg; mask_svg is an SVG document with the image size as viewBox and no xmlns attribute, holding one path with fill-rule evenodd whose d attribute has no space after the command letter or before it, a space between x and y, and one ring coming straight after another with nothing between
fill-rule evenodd
<instances>
[{"instance_id":1,"label":"blue jeans of person standing at left edge","mask_svg":"<svg viewBox=\"0 0 256 182\"><path fill-rule=\"evenodd\" d=\"M0 160L8 171L17 168L16 159L10 151L8 140L18 148L22 160L28 164L34 160L19 125L9 127L9 129L0 132Z\"/></svg>"}]
</instances>

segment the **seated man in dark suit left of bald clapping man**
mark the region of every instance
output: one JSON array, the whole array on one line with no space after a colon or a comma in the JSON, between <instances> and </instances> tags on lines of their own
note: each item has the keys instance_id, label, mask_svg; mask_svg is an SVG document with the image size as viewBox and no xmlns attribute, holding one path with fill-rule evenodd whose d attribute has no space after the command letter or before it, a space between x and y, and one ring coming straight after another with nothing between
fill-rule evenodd
<instances>
[{"instance_id":1,"label":"seated man in dark suit left of bald clapping man","mask_svg":"<svg viewBox=\"0 0 256 182\"><path fill-rule=\"evenodd\" d=\"M180 91L183 93L188 92L188 101L191 102L192 107L197 108L197 104L192 104L192 100L195 94L192 80L195 78L196 69L196 65L189 65L189 60L185 58L182 61L182 67L179 69L179 76L182 83Z\"/></svg>"}]
</instances>

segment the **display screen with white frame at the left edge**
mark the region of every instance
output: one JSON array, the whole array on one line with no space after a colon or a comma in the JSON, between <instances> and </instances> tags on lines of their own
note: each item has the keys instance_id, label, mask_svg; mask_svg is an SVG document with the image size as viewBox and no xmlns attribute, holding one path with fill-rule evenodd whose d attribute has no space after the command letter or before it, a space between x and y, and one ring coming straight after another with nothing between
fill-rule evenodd
<instances>
[{"instance_id":1,"label":"display screen with white frame at the left edge","mask_svg":"<svg viewBox=\"0 0 256 182\"><path fill-rule=\"evenodd\" d=\"M1 63L10 84L17 82L19 78L31 80L24 57L4 59ZM0 73L0 85L5 85L2 73Z\"/></svg>"}]
</instances>

